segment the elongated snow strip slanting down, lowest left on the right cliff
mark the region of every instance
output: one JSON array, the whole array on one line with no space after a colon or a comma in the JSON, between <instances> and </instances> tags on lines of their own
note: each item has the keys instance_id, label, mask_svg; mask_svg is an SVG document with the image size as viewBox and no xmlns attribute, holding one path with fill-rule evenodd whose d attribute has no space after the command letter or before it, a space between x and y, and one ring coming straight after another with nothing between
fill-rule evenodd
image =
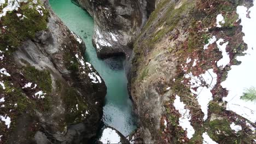
<instances>
[{"instance_id":1,"label":"elongated snow strip slanting down, lowest left on the right cliff","mask_svg":"<svg viewBox=\"0 0 256 144\"><path fill-rule=\"evenodd\" d=\"M179 125L183 130L187 131L187 136L191 139L195 134L195 130L190 124L190 110L185 108L185 104L181 101L181 98L178 95L176 95L173 106L179 111L179 114L181 114L181 117L179 117Z\"/></svg>"}]
</instances>

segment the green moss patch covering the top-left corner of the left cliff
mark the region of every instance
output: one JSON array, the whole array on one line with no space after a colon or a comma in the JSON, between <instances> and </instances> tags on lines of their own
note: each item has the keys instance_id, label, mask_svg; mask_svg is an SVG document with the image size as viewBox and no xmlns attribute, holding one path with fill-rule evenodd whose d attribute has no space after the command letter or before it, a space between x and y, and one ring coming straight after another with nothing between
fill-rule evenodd
<instances>
[{"instance_id":1,"label":"green moss patch covering the top-left corner of the left cliff","mask_svg":"<svg viewBox=\"0 0 256 144\"><path fill-rule=\"evenodd\" d=\"M38 1L38 3L40 2ZM29 8L30 5L32 5L32 8ZM25 15L27 18L20 20L21 17L17 16L18 13ZM43 9L43 13L44 15L41 16L36 10L36 5L30 0L27 3L21 3L18 11L9 11L7 15L1 17L0 26L7 26L2 37L0 37L1 50L9 46L9 52L14 51L15 47L22 44L22 41L32 39L36 32L45 30L49 14L46 9Z\"/></svg>"}]
</instances>

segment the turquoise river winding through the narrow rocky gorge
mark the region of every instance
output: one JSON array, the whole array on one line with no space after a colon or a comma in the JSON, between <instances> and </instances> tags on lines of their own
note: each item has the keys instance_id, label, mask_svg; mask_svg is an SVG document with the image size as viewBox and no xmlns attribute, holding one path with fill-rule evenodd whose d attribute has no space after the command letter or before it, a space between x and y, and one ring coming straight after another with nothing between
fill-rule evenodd
<instances>
[{"instance_id":1,"label":"turquoise river winding through the narrow rocky gorge","mask_svg":"<svg viewBox=\"0 0 256 144\"><path fill-rule=\"evenodd\" d=\"M85 10L73 4L71 0L50 0L50 5L67 27L83 38L86 44L86 61L94 65L106 82L106 105L103 107L102 118L104 125L119 130L125 136L129 135L136 129L137 120L133 115L127 92L124 58L97 58L91 42L94 20Z\"/></svg>"}]
</instances>

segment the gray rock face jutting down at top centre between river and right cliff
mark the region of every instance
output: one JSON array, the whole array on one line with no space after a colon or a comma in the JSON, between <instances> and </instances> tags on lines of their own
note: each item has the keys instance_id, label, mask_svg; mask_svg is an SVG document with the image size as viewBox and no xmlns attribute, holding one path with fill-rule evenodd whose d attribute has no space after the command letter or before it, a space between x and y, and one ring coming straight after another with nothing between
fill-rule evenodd
<instances>
[{"instance_id":1,"label":"gray rock face jutting down at top centre between river and right cliff","mask_svg":"<svg viewBox=\"0 0 256 144\"><path fill-rule=\"evenodd\" d=\"M97 56L131 55L133 42L154 9L154 0L75 0L94 18Z\"/></svg>"}]
</instances>

